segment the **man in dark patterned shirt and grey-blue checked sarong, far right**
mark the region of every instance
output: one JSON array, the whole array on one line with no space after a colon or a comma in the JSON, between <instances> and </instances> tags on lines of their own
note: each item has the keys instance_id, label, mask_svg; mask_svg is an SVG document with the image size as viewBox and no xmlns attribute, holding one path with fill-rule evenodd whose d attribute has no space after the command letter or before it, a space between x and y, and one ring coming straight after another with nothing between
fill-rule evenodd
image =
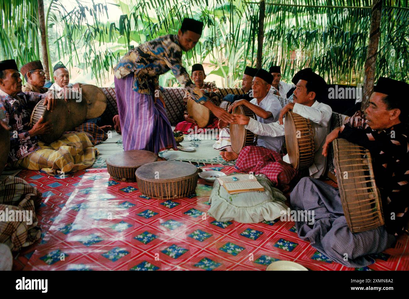
<instances>
[{"instance_id":1,"label":"man in dark patterned shirt and grey-blue checked sarong, far right","mask_svg":"<svg viewBox=\"0 0 409 299\"><path fill-rule=\"evenodd\" d=\"M316 179L301 179L291 193L295 210L314 212L313 225L297 219L299 237L344 266L356 268L374 263L375 254L393 245L405 231L409 218L409 131L405 124L408 99L402 95L408 88L407 83L379 78L369 98L366 118L356 112L327 136L322 151L326 156L329 144L335 138L344 138L371 152L385 225L351 232L338 189Z\"/></svg>"}]
</instances>

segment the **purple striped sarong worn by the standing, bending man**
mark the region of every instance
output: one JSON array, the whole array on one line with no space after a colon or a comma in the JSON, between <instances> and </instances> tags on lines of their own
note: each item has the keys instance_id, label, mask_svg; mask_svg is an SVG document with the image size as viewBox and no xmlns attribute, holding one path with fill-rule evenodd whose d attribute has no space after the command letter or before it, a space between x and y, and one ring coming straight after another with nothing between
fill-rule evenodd
<instances>
[{"instance_id":1,"label":"purple striped sarong worn by the standing, bending man","mask_svg":"<svg viewBox=\"0 0 409 299\"><path fill-rule=\"evenodd\" d=\"M115 93L121 120L124 150L147 150L158 153L177 149L168 114L160 100L132 89L133 73L115 77Z\"/></svg>"}]
</instances>

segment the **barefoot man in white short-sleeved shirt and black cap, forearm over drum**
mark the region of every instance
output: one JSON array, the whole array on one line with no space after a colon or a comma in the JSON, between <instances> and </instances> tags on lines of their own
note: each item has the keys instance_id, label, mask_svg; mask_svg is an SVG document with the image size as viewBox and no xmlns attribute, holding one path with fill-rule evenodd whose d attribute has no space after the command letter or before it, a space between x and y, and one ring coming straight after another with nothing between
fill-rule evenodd
<instances>
[{"instance_id":1,"label":"barefoot man in white short-sleeved shirt and black cap, forearm over drum","mask_svg":"<svg viewBox=\"0 0 409 299\"><path fill-rule=\"evenodd\" d=\"M235 101L230 105L229 112L233 111L237 106L244 105L256 114L257 120L261 123L267 124L277 121L281 105L276 96L270 92L270 82L272 82L272 75L265 69L259 69L252 81L254 98L250 102L247 100ZM280 152L283 137L259 136L257 145ZM220 156L225 160L233 161L236 160L238 154L231 150L220 152Z\"/></svg>"}]
</instances>

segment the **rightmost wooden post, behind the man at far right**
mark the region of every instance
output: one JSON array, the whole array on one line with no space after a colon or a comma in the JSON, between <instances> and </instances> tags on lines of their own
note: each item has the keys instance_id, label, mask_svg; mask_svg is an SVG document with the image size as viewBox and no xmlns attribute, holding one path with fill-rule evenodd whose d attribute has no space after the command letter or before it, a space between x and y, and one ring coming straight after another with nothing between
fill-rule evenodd
<instances>
[{"instance_id":1,"label":"rightmost wooden post, behind the man at far right","mask_svg":"<svg viewBox=\"0 0 409 299\"><path fill-rule=\"evenodd\" d=\"M373 84L375 83L376 54L378 53L379 46L381 14L382 0L373 0L371 29L369 31L368 49L366 51L364 86L362 87L362 111L365 111L369 106L369 97L373 92Z\"/></svg>"}]
</instances>

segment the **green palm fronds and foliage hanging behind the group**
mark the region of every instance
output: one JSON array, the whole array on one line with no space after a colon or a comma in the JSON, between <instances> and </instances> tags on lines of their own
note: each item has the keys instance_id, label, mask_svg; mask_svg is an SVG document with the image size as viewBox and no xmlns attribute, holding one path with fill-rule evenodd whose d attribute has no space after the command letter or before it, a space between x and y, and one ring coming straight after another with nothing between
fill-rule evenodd
<instances>
[{"instance_id":1,"label":"green palm fronds and foliage hanging behind the group","mask_svg":"<svg viewBox=\"0 0 409 299\"><path fill-rule=\"evenodd\" d=\"M177 33L184 17L205 22L196 48L184 55L185 67L209 61L223 85L238 83L246 65L256 65L259 5L238 0L45 0L49 59L63 60L90 73L97 81L112 74L129 49L157 36ZM281 5L273 4L279 2ZM19 66L41 59L37 0L3 1L0 7L0 59ZM331 6L331 7L325 7ZM339 6L339 7L336 7ZM351 8L351 6L359 8ZM270 0L266 2L263 67L281 65L289 80L303 67L328 83L362 83L371 19L369 0ZM122 15L107 22L110 9ZM384 0L377 77L409 82L408 0ZM171 72L161 84L175 83Z\"/></svg>"}]
</instances>

